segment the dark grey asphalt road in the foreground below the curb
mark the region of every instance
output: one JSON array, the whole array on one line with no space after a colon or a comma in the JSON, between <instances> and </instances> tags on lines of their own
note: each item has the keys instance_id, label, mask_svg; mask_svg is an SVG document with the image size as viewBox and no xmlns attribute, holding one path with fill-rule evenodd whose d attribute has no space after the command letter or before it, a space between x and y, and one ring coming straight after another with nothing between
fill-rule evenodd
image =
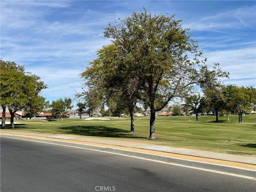
<instances>
[{"instance_id":1,"label":"dark grey asphalt road in the foreground below the curb","mask_svg":"<svg viewBox=\"0 0 256 192\"><path fill-rule=\"evenodd\" d=\"M104 188L105 187L105 188ZM1 137L4 191L255 191L225 174L99 151Z\"/></svg>"}]
</instances>

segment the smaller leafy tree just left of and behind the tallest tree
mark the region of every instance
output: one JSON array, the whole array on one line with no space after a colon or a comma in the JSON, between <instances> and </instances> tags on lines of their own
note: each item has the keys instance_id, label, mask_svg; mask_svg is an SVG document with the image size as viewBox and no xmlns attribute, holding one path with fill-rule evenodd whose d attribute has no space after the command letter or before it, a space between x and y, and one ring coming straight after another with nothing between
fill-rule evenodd
<instances>
[{"instance_id":1,"label":"smaller leafy tree just left of and behind the tallest tree","mask_svg":"<svg viewBox=\"0 0 256 192\"><path fill-rule=\"evenodd\" d=\"M101 93L105 95L107 105L111 105L109 101L117 95L118 100L121 101L119 107L129 109L130 130L135 132L133 114L138 100L139 78L130 69L129 63L132 61L123 57L119 52L115 44L103 46L98 51L98 58L90 63L90 67L81 76L88 87L101 90Z\"/></svg>"}]
</instances>

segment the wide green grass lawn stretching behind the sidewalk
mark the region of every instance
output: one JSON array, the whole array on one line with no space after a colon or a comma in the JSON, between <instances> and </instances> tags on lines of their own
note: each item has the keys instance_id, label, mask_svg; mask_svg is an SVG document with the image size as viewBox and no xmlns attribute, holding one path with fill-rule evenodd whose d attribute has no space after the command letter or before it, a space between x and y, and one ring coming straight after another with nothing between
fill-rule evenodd
<instances>
[{"instance_id":1,"label":"wide green grass lawn stretching behind the sidewalk","mask_svg":"<svg viewBox=\"0 0 256 192\"><path fill-rule=\"evenodd\" d=\"M130 118L113 117L111 120L82 121L81 119L17 120L22 123L15 129L40 133L78 134L90 137L107 137L180 148L217 151L227 154L256 155L256 115L226 117L214 122L214 116L156 117L157 140L147 140L149 117L135 118L135 133L130 133ZM11 131L11 130L10 130Z\"/></svg>"}]
</instances>

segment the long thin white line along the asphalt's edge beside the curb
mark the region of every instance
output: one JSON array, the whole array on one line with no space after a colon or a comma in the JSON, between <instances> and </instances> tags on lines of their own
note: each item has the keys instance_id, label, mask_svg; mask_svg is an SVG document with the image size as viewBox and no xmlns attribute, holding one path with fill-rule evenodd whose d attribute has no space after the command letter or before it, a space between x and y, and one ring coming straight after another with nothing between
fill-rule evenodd
<instances>
[{"instance_id":1,"label":"long thin white line along the asphalt's edge beside the curb","mask_svg":"<svg viewBox=\"0 0 256 192\"><path fill-rule=\"evenodd\" d=\"M25 140L25 141L34 141L34 142L40 142L40 143L47 143L47 144L51 144L51 145L58 145L58 146L64 146L64 147L73 147L73 148L78 148L78 149L93 150L93 151L98 151L98 152L102 152L102 153L109 153L109 154L115 154L115 155L122 155L122 156L126 156L126 157L133 157L133 158L144 159L144 160L147 160L147 161L153 161L153 162L158 162L158 163L164 163L164 164L182 166L182 167L187 167L187 168L190 168L190 169L196 169L196 170L202 170L202 171L209 171L209 172L213 172L213 173L226 174L226 175L230 175L230 176L234 176L234 177L240 177L240 178L245 178L245 179L256 180L255 177L250 177L250 176L246 176L246 175L239 175L239 174L227 173L227 172L222 172L222 171L214 171L214 170L203 169L203 168L193 167L193 166L187 166L187 165L181 165L181 164L176 164L176 163L168 163L168 162L164 162L164 161L158 161L158 160L154 160L154 159L148 159L148 158L143 158L143 157L136 157L136 156L125 155L125 154L118 154L118 153L113 153L113 152L109 152L109 151L102 151L102 150L97 150L97 149L88 149L88 148L84 148L84 147L69 146L69 145L63 145L63 144L51 143L51 142L45 142L45 141L35 141L35 140L29 140L29 139L21 139L21 138L6 137L6 136L4 136L4 135L0 135L0 137L10 138L10 139L18 139L18 140ZM62 142L65 142L65 141L62 141ZM99 147L99 146L97 146L97 147ZM110 147L109 147L109 148L110 148ZM115 149L115 148L112 148L112 149Z\"/></svg>"}]
</instances>

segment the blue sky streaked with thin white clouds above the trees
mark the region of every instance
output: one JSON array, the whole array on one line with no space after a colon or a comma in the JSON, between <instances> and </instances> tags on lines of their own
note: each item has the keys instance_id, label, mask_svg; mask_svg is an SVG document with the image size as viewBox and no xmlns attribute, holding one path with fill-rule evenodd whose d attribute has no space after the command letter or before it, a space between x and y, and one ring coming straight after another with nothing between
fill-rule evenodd
<instances>
[{"instance_id":1,"label":"blue sky streaked with thin white clouds above the trees","mask_svg":"<svg viewBox=\"0 0 256 192\"><path fill-rule=\"evenodd\" d=\"M103 28L143 6L182 19L209 66L229 71L225 84L256 85L255 1L1 1L1 58L40 76L47 100L74 97L79 73L110 42Z\"/></svg>"}]
</instances>

